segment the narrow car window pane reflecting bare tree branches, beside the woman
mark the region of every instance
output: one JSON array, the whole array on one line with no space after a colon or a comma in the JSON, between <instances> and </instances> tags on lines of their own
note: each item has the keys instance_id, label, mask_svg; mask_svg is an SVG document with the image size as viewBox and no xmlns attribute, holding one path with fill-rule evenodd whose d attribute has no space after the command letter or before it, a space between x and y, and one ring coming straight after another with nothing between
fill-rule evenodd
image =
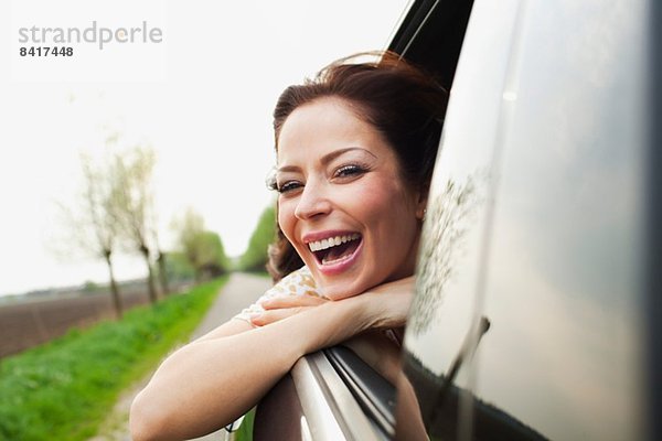
<instances>
[{"instance_id":1,"label":"narrow car window pane reflecting bare tree branches, beside the woman","mask_svg":"<svg viewBox=\"0 0 662 441\"><path fill-rule=\"evenodd\" d=\"M428 201L405 372L433 435L455 433L458 390L470 383L462 351L477 323L477 276L516 6L515 0L483 1L478 11L474 6ZM446 395L450 398L440 407Z\"/></svg>"}]
</instances>

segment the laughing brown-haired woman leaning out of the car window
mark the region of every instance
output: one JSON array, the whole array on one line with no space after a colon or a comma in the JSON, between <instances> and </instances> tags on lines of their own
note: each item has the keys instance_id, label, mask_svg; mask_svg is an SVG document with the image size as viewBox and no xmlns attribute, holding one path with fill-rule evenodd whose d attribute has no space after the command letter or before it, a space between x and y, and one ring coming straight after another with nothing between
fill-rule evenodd
<instances>
[{"instance_id":1,"label":"laughing brown-haired woman leaning out of the car window","mask_svg":"<svg viewBox=\"0 0 662 441\"><path fill-rule=\"evenodd\" d=\"M270 267L285 279L163 362L131 407L135 440L217 430L335 344L395 377L445 108L446 93L392 54L342 60L282 93ZM302 295L278 295L289 287Z\"/></svg>"}]
</instances>

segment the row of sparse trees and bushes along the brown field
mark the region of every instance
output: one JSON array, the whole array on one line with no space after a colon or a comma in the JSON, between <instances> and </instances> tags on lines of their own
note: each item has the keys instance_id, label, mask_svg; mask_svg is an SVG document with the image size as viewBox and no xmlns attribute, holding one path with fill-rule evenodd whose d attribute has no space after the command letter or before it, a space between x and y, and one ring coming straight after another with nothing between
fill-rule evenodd
<instances>
[{"instance_id":1,"label":"row of sparse trees and bushes along the brown field","mask_svg":"<svg viewBox=\"0 0 662 441\"><path fill-rule=\"evenodd\" d=\"M107 144L114 142L116 137L110 137ZM156 154L150 147L121 152L106 149L99 158L82 154L81 165L83 181L77 202L73 206L60 204L70 236L67 248L73 245L105 261L118 318L124 310L113 260L118 252L136 254L145 261L152 304L159 291L162 295L170 293L171 277L192 273L200 281L229 268L221 237L205 230L202 217L192 209L173 223L179 249L162 249L152 184Z\"/></svg>"}]
</instances>

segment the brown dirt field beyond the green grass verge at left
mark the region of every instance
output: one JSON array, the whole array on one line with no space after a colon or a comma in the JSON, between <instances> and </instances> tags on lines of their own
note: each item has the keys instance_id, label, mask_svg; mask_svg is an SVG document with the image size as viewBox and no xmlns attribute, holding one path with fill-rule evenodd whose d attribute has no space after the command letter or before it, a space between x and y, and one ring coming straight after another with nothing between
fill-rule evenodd
<instances>
[{"instance_id":1,"label":"brown dirt field beyond the green grass verge at left","mask_svg":"<svg viewBox=\"0 0 662 441\"><path fill-rule=\"evenodd\" d=\"M146 291L132 288L120 292L125 311L148 302ZM107 293L0 306L0 358L61 336L74 326L111 316Z\"/></svg>"}]
</instances>

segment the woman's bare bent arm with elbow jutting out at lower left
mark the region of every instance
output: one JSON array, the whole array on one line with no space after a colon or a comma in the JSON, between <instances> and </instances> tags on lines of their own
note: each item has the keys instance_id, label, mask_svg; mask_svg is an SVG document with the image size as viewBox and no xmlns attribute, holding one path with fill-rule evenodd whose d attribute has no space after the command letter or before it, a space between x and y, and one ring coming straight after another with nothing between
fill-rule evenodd
<instances>
[{"instance_id":1,"label":"woman's bare bent arm with elbow jutting out at lower left","mask_svg":"<svg viewBox=\"0 0 662 441\"><path fill-rule=\"evenodd\" d=\"M194 438L234 421L301 356L376 325L378 314L363 298L325 302L256 329L231 320L177 351L131 406L134 439Z\"/></svg>"}]
</instances>

